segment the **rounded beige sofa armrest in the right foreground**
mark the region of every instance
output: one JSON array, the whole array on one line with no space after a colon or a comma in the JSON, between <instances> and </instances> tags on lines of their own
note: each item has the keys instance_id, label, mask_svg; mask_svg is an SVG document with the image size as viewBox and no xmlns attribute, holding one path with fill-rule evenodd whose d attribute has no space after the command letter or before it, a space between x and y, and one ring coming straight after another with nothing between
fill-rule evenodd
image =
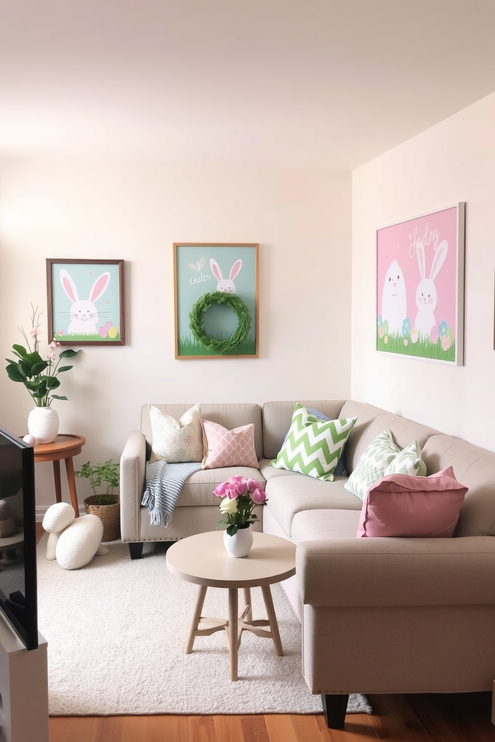
<instances>
[{"instance_id":1,"label":"rounded beige sofa armrest in the right foreground","mask_svg":"<svg viewBox=\"0 0 495 742\"><path fill-rule=\"evenodd\" d=\"M495 605L495 538L329 539L296 549L304 604Z\"/></svg>"}]
</instances>

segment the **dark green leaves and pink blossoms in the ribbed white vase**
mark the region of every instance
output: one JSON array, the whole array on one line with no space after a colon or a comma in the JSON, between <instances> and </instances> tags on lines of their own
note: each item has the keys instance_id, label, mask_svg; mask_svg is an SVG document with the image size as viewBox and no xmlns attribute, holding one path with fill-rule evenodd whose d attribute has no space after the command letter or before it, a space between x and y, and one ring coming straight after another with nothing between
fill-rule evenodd
<instances>
[{"instance_id":1,"label":"dark green leaves and pink blossoms in the ribbed white vase","mask_svg":"<svg viewBox=\"0 0 495 742\"><path fill-rule=\"evenodd\" d=\"M59 353L59 358L56 358L56 350L60 347L60 343L55 338L48 345L48 355L44 360L39 355L39 318L42 312L38 312L31 304L33 314L31 315L31 326L30 336L33 342L33 348L30 347L30 342L27 338L26 332L22 327L19 330L26 341L27 348L22 345L13 345L13 353L19 358L19 361L13 361L10 358L5 358L7 361L7 367L5 367L8 377L12 381L20 381L24 384L27 391L33 398L36 407L50 407L53 399L67 399L67 397L53 394L53 391L58 389L60 381L57 378L59 373L71 370L72 366L59 366L62 358L73 358L79 353L79 350L62 350Z\"/></svg>"}]
</instances>

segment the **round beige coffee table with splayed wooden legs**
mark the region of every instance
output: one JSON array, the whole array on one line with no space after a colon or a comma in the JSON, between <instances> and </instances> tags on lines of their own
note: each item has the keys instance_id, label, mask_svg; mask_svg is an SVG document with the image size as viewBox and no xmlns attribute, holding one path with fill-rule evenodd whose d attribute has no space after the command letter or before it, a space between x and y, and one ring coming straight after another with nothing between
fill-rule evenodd
<instances>
[{"instance_id":1,"label":"round beige coffee table with splayed wooden legs","mask_svg":"<svg viewBox=\"0 0 495 742\"><path fill-rule=\"evenodd\" d=\"M172 574L199 585L184 649L186 654L191 654L195 637L226 631L231 680L237 680L237 650L243 631L252 631L258 637L272 639L278 657L283 656L270 585L295 574L295 545L292 542L269 533L254 532L251 551L247 557L236 559L230 557L223 546L223 531L197 533L172 544L166 559L167 568ZM229 590L228 620L201 615L209 587ZM256 587L260 587L263 593L267 621L252 620L251 588ZM245 604L240 617L237 615L239 588L243 588ZM200 623L210 626L198 628ZM269 631L261 626L269 626Z\"/></svg>"}]
</instances>

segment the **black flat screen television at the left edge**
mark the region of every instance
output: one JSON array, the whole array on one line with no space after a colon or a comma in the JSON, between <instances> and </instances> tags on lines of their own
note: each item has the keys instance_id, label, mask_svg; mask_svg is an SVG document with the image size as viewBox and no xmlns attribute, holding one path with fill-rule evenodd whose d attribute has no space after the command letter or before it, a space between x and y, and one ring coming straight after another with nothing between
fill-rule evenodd
<instances>
[{"instance_id":1,"label":"black flat screen television at the left edge","mask_svg":"<svg viewBox=\"0 0 495 742\"><path fill-rule=\"evenodd\" d=\"M34 450L0 427L0 613L38 647Z\"/></svg>"}]
</instances>

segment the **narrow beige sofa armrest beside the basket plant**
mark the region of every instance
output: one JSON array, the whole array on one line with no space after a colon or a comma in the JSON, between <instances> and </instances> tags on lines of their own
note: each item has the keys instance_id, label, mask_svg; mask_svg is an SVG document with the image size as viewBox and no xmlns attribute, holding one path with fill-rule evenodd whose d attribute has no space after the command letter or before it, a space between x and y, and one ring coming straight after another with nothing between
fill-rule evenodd
<instances>
[{"instance_id":1,"label":"narrow beige sofa armrest beside the basket plant","mask_svg":"<svg viewBox=\"0 0 495 742\"><path fill-rule=\"evenodd\" d=\"M138 538L138 514L145 490L146 439L132 430L120 457L120 532L122 541Z\"/></svg>"}]
</instances>

